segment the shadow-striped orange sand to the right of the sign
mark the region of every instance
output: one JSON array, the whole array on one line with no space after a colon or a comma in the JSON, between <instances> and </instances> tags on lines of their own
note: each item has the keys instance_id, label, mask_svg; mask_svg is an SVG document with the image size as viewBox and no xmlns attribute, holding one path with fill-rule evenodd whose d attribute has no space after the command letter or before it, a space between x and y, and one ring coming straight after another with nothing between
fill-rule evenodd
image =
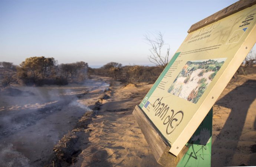
<instances>
[{"instance_id":1,"label":"shadow-striped orange sand to the right of the sign","mask_svg":"<svg viewBox=\"0 0 256 167\"><path fill-rule=\"evenodd\" d=\"M256 75L234 78L213 114L212 166L256 166Z\"/></svg>"}]
</instances>

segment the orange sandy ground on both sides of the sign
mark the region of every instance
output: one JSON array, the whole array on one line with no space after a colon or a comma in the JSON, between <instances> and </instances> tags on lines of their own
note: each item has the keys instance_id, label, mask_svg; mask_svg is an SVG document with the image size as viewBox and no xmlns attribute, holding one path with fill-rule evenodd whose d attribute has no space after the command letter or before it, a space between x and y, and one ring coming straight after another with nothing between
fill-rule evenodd
<instances>
[{"instance_id":1,"label":"orange sandy ground on both sides of the sign","mask_svg":"<svg viewBox=\"0 0 256 167\"><path fill-rule=\"evenodd\" d=\"M159 166L132 110L152 85L122 87L114 82L111 98L88 125L90 143L72 166ZM211 164L256 165L256 75L230 82L214 106Z\"/></svg>"}]
</instances>

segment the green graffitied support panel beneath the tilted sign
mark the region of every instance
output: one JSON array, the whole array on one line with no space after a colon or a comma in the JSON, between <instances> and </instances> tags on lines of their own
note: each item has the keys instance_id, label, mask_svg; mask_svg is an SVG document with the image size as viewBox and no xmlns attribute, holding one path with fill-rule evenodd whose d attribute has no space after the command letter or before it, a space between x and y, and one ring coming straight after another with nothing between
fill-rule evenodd
<instances>
[{"instance_id":1,"label":"green graffitied support panel beneath the tilted sign","mask_svg":"<svg viewBox=\"0 0 256 167\"><path fill-rule=\"evenodd\" d=\"M187 143L188 151L177 167L210 167L213 108Z\"/></svg>"}]
</instances>

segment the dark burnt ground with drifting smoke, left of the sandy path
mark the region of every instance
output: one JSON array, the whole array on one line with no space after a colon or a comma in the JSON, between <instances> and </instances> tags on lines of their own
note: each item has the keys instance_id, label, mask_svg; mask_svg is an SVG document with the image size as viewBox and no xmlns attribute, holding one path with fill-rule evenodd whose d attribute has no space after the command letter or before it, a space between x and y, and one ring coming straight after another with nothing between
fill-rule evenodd
<instances>
[{"instance_id":1,"label":"dark burnt ground with drifting smoke, left of the sandy path","mask_svg":"<svg viewBox=\"0 0 256 167\"><path fill-rule=\"evenodd\" d=\"M104 81L83 85L11 87L0 93L0 162L4 166L43 166L53 146L91 109L83 96L108 88ZM15 157L15 158L14 158Z\"/></svg>"}]
</instances>

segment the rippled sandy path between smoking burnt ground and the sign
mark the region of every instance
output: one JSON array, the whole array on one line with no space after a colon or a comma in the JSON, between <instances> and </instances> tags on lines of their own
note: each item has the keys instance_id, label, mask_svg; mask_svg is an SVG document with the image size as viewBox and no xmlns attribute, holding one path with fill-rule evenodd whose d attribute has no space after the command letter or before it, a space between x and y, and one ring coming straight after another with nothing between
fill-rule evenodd
<instances>
[{"instance_id":1,"label":"rippled sandy path between smoking burnt ground and the sign","mask_svg":"<svg viewBox=\"0 0 256 167\"><path fill-rule=\"evenodd\" d=\"M134 106L150 86L121 88L114 82L111 98L88 125L90 145L73 166L159 166L132 116Z\"/></svg>"}]
</instances>

